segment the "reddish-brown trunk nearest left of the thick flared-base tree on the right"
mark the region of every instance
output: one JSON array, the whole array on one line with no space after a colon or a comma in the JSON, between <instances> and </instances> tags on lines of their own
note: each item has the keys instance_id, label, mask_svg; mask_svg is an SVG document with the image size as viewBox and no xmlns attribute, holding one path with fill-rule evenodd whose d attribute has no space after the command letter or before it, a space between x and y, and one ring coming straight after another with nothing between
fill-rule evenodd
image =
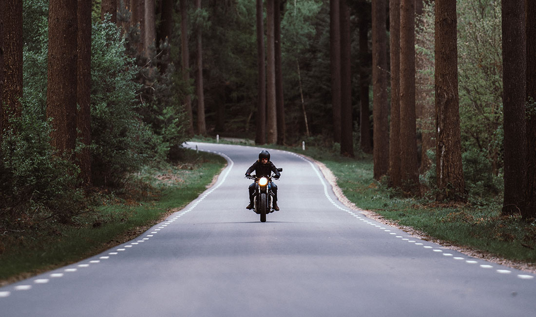
<instances>
[{"instance_id":1,"label":"reddish-brown trunk nearest left of the thick flared-base tree on the right","mask_svg":"<svg viewBox=\"0 0 536 317\"><path fill-rule=\"evenodd\" d=\"M415 0L400 0L401 189L420 195L415 118Z\"/></svg>"}]
</instances>

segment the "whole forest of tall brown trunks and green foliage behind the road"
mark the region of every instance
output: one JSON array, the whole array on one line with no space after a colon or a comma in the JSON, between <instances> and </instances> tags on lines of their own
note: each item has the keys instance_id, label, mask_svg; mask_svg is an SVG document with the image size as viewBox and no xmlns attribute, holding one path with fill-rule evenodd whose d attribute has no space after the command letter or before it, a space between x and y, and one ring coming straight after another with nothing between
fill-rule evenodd
<instances>
[{"instance_id":1,"label":"whole forest of tall brown trunks and green foliage behind the road","mask_svg":"<svg viewBox=\"0 0 536 317\"><path fill-rule=\"evenodd\" d=\"M215 135L532 221L535 29L525 0L3 0L1 227L69 222Z\"/></svg>"}]
</instances>

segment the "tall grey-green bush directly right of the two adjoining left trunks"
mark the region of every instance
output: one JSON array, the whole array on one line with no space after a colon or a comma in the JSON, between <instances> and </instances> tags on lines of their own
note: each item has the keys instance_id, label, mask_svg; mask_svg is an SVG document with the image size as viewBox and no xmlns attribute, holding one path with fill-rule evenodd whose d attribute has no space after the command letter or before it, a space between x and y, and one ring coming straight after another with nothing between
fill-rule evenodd
<instances>
[{"instance_id":1,"label":"tall grey-green bush directly right of the two adjoining left trunks","mask_svg":"<svg viewBox=\"0 0 536 317\"><path fill-rule=\"evenodd\" d=\"M138 68L125 54L120 30L106 20L93 25L91 67L92 172L98 185L118 184L136 171L160 140L137 115ZM158 159L158 158L157 158Z\"/></svg>"}]
</instances>

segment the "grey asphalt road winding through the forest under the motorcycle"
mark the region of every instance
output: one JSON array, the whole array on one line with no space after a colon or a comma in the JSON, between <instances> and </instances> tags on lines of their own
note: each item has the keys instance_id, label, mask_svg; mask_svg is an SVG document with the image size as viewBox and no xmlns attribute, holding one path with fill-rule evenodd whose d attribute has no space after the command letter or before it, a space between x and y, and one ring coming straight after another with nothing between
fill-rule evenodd
<instances>
[{"instance_id":1,"label":"grey asphalt road winding through the forest under the motorcycle","mask_svg":"<svg viewBox=\"0 0 536 317\"><path fill-rule=\"evenodd\" d=\"M531 274L421 241L339 203L319 169L270 150L280 211L246 210L258 148L140 237L0 288L0 316L534 316Z\"/></svg>"}]
</instances>

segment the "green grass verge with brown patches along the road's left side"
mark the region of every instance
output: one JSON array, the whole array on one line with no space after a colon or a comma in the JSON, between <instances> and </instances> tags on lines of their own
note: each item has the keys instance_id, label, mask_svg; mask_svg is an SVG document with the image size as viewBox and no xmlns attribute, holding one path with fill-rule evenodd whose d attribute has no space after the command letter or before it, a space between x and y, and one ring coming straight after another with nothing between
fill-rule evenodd
<instances>
[{"instance_id":1,"label":"green grass verge with brown patches along the road's left side","mask_svg":"<svg viewBox=\"0 0 536 317\"><path fill-rule=\"evenodd\" d=\"M197 198L225 164L215 154L187 151L180 166L147 168L124 192L97 195L99 205L69 225L41 223L11 233L3 239L0 280L13 282L76 262L138 236Z\"/></svg>"}]
</instances>

